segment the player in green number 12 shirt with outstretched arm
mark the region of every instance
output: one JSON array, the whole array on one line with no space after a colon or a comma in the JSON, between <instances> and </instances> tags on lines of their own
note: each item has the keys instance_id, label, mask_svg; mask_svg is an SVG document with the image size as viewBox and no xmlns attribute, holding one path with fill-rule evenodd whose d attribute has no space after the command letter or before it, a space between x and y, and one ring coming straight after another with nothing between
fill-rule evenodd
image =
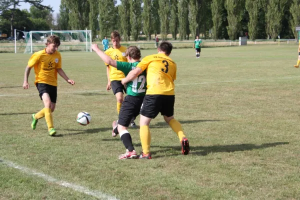
<instances>
[{"instance_id":1,"label":"player in green number 12 shirt with outstretched arm","mask_svg":"<svg viewBox=\"0 0 300 200\"><path fill-rule=\"evenodd\" d=\"M127 75L131 70L135 69L141 57L140 50L136 46L129 46L126 49L125 56L129 62L121 62L111 59L108 55L102 52L97 44L92 44L91 48L100 56L100 58L110 66L116 67L117 70L122 71ZM117 134L126 147L126 152L119 155L119 159L135 158L136 152L134 150L131 136L128 132L128 126L132 117L136 117L139 114L139 110L146 93L146 71L139 74L134 80L127 82L126 93L117 121L112 122L112 136Z\"/></svg>"}]
</instances>

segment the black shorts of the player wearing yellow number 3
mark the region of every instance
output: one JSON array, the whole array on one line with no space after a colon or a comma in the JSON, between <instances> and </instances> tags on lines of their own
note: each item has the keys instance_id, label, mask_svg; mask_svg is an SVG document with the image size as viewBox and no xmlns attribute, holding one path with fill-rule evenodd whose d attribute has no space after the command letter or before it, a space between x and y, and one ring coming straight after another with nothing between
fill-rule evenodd
<instances>
[{"instance_id":1,"label":"black shorts of the player wearing yellow number 3","mask_svg":"<svg viewBox=\"0 0 300 200\"><path fill-rule=\"evenodd\" d=\"M174 115L174 95L147 94L144 97L140 114L149 118L155 118L160 112L161 115Z\"/></svg>"}]
</instances>

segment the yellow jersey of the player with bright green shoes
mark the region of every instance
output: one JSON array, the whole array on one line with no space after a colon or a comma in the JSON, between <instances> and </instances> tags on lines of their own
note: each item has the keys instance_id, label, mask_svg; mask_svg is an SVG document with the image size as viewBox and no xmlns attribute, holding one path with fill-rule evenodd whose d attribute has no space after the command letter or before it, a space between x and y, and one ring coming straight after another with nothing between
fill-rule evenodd
<instances>
[{"instance_id":1,"label":"yellow jersey of the player with bright green shoes","mask_svg":"<svg viewBox=\"0 0 300 200\"><path fill-rule=\"evenodd\" d=\"M58 51L52 54L46 50L33 53L28 60L28 66L34 67L35 83L46 83L57 86L57 69L61 68L61 55Z\"/></svg>"}]
</instances>

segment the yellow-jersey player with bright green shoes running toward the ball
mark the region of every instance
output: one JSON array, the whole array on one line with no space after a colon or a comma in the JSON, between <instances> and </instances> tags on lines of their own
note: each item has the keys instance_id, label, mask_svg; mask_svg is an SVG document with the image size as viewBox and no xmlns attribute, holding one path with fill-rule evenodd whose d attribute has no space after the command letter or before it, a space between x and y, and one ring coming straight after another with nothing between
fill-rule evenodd
<instances>
[{"instance_id":1,"label":"yellow-jersey player with bright green shoes running toward the ball","mask_svg":"<svg viewBox=\"0 0 300 200\"><path fill-rule=\"evenodd\" d=\"M31 128L35 129L37 120L45 117L48 126L48 132L51 136L56 134L53 127L52 112L55 109L57 97L57 73L69 84L75 82L67 77L61 68L61 55L57 51L60 45L59 37L51 35L47 38L46 48L33 53L25 68L23 88L28 89L28 76L32 67L34 67L34 84L39 92L40 99L44 103L44 108L39 112L32 114Z\"/></svg>"}]
</instances>

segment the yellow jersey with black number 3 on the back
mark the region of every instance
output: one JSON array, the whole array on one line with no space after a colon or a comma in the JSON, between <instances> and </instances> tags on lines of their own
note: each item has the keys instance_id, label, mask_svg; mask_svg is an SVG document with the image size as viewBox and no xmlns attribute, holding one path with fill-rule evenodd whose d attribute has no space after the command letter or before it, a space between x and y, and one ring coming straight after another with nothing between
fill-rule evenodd
<instances>
[{"instance_id":1,"label":"yellow jersey with black number 3 on the back","mask_svg":"<svg viewBox=\"0 0 300 200\"><path fill-rule=\"evenodd\" d=\"M164 53L145 56L136 67L147 70L146 94L174 95L176 63Z\"/></svg>"}]
</instances>

